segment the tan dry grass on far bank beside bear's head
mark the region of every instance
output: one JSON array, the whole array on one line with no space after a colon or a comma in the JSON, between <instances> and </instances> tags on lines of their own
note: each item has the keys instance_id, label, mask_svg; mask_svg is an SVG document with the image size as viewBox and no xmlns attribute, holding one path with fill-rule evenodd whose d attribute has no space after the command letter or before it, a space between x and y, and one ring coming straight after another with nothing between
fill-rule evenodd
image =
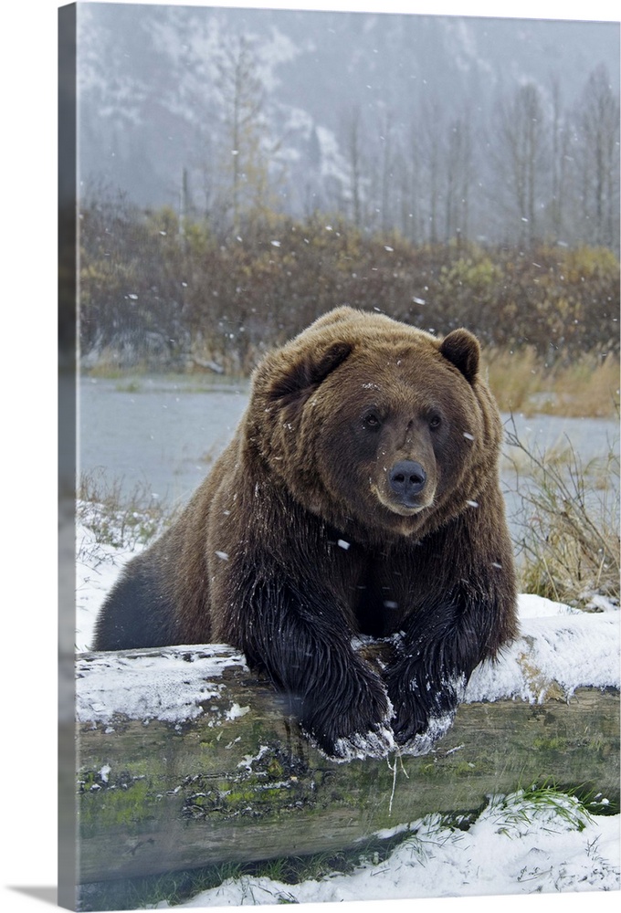
<instances>
[{"instance_id":1,"label":"tan dry grass on far bank beside bear's head","mask_svg":"<svg viewBox=\"0 0 621 913\"><path fill-rule=\"evenodd\" d=\"M619 362L586 352L571 364L546 364L532 348L484 353L489 386L502 412L615 418Z\"/></svg>"}]
</instances>

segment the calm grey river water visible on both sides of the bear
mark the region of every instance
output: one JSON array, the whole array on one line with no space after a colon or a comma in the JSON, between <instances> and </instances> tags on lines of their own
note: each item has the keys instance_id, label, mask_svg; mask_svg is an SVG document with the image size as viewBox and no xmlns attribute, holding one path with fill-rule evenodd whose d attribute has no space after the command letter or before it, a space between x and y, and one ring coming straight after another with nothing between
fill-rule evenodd
<instances>
[{"instance_id":1,"label":"calm grey river water visible on both sides of the bear","mask_svg":"<svg viewBox=\"0 0 621 913\"><path fill-rule=\"evenodd\" d=\"M132 495L138 488L172 509L183 504L226 446L247 405L247 384L192 377L138 377L121 381L83 377L79 383L79 470L103 474ZM618 425L590 418L504 415L529 449L569 444L584 463L618 450ZM519 498L505 447L501 480L510 525ZM523 469L523 461L521 462Z\"/></svg>"}]
</instances>

